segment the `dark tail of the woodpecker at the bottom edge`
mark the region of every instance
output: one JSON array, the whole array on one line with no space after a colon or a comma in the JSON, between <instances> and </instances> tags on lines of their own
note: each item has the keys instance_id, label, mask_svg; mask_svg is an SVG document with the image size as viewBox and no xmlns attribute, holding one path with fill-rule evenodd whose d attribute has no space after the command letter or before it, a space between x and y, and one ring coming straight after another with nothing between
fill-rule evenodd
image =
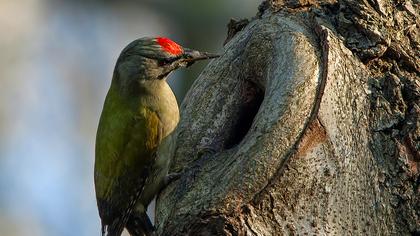
<instances>
[{"instance_id":1,"label":"dark tail of the woodpecker at the bottom edge","mask_svg":"<svg viewBox=\"0 0 420 236\"><path fill-rule=\"evenodd\" d=\"M132 212L125 225L131 236L154 236L155 227L146 212Z\"/></svg>"}]
</instances>

